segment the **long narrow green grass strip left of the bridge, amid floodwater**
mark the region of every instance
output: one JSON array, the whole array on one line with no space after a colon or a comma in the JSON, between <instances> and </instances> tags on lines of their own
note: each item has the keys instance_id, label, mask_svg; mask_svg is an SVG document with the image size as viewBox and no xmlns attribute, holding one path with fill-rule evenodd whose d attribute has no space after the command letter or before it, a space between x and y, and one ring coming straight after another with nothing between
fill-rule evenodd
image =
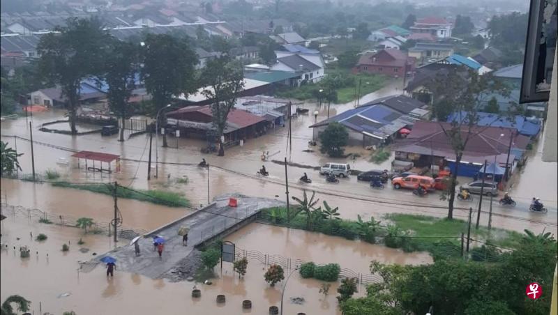
<instances>
[{"instance_id":1,"label":"long narrow green grass strip left of the bridge, amid floodwater","mask_svg":"<svg viewBox=\"0 0 558 315\"><path fill-rule=\"evenodd\" d=\"M107 184L83 184L75 185L72 183L60 181L52 183L56 187L74 188L79 190L87 190L89 192L97 192L98 194L108 194L112 196L113 187ZM116 195L119 198L135 199L160 204L169 207L186 207L190 206L190 202L182 194L177 192L167 192L163 190L129 190L118 186Z\"/></svg>"}]
</instances>

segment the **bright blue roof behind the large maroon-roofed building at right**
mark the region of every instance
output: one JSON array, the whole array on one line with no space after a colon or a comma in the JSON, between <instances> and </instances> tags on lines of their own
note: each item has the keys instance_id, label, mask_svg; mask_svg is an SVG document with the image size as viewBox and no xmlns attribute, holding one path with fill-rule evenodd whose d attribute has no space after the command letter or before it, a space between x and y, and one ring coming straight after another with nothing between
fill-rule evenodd
<instances>
[{"instance_id":1,"label":"bright blue roof behind the large maroon-roofed building at right","mask_svg":"<svg viewBox=\"0 0 558 315\"><path fill-rule=\"evenodd\" d=\"M478 112L478 121L476 125L479 126L490 126L490 127L501 127L501 128L513 128L520 135L524 135L529 138L534 138L541 132L541 121L538 119L529 119L525 116L515 115L513 118L502 117L497 114ZM465 121L467 122L467 114L453 113L448 117L448 123L452 121Z\"/></svg>"}]
</instances>

